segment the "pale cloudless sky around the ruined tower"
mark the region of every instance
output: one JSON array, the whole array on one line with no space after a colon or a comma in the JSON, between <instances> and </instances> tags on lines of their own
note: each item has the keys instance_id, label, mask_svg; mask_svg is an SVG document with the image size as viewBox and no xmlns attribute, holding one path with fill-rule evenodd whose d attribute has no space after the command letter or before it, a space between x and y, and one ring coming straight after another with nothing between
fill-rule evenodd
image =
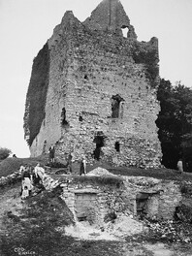
<instances>
[{"instance_id":1,"label":"pale cloudless sky around the ruined tower","mask_svg":"<svg viewBox=\"0 0 192 256\"><path fill-rule=\"evenodd\" d=\"M30 155L23 115L33 58L68 10L83 21L101 0L0 0L0 147ZM192 0L121 0L139 41L159 39L160 76L192 86Z\"/></svg>"}]
</instances>

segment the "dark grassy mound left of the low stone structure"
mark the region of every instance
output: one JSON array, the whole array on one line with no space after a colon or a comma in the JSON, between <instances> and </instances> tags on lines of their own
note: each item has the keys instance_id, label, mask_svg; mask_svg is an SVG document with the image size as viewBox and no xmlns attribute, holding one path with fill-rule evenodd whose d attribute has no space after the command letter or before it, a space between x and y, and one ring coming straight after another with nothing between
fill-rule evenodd
<instances>
[{"instance_id":1,"label":"dark grassy mound left of the low stone structure","mask_svg":"<svg viewBox=\"0 0 192 256\"><path fill-rule=\"evenodd\" d=\"M16 248L38 256L118 256L122 243L106 240L75 240L63 227L74 223L73 215L58 195L60 188L25 201L19 216L6 214L0 239L0 255L15 256Z\"/></svg>"}]
</instances>

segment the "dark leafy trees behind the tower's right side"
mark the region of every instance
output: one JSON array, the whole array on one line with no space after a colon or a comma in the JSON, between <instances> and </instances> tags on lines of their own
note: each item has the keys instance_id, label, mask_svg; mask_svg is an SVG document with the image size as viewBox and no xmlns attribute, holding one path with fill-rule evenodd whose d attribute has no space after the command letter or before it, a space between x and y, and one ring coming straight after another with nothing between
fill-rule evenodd
<instances>
[{"instance_id":1,"label":"dark leafy trees behind the tower's right side","mask_svg":"<svg viewBox=\"0 0 192 256\"><path fill-rule=\"evenodd\" d=\"M178 82L161 80L157 92L161 112L156 121L162 145L162 164L176 169L179 157L192 163L192 90ZM191 158L191 159L190 159Z\"/></svg>"}]
</instances>

